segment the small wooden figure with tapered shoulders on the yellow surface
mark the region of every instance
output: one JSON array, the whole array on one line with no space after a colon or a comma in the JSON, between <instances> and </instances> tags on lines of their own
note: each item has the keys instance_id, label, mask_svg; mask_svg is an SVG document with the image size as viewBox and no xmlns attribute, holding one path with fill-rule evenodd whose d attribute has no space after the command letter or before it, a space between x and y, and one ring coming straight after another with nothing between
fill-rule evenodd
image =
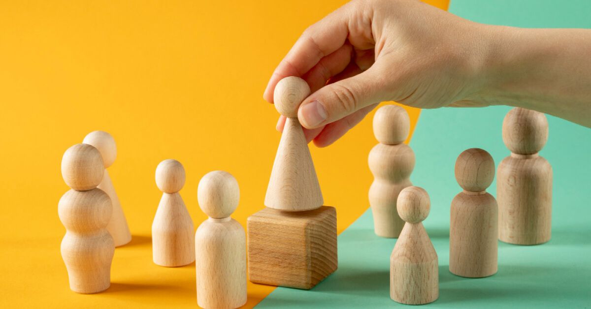
<instances>
[{"instance_id":1,"label":"small wooden figure with tapered shoulders on the yellow surface","mask_svg":"<svg viewBox=\"0 0 591 309\"><path fill-rule=\"evenodd\" d=\"M156 185L163 191L152 223L154 263L165 267L184 266L195 261L193 220L178 191L185 172L177 160L164 160L156 168Z\"/></svg>"}]
</instances>

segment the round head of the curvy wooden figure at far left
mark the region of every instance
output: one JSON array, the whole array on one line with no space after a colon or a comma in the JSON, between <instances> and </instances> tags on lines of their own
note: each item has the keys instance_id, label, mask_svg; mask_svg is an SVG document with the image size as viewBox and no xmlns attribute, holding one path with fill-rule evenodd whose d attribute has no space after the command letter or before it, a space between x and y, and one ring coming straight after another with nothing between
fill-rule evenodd
<instances>
[{"instance_id":1,"label":"round head of the curvy wooden figure at far left","mask_svg":"<svg viewBox=\"0 0 591 309\"><path fill-rule=\"evenodd\" d=\"M103 180L105 164L98 149L87 144L68 148L61 158L61 177L76 191L96 188Z\"/></svg>"}]
</instances>

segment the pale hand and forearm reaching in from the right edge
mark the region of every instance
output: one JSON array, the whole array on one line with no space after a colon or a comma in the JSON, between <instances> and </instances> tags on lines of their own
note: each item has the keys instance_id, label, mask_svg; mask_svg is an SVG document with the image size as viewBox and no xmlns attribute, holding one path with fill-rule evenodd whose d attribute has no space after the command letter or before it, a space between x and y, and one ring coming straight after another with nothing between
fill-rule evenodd
<instances>
[{"instance_id":1,"label":"pale hand and forearm reaching in from the right edge","mask_svg":"<svg viewBox=\"0 0 591 309\"><path fill-rule=\"evenodd\" d=\"M418 0L354 0L303 32L264 99L273 102L284 77L306 80L312 94L298 119L318 147L383 101L517 106L591 127L590 58L588 29L485 25Z\"/></svg>"}]
</instances>

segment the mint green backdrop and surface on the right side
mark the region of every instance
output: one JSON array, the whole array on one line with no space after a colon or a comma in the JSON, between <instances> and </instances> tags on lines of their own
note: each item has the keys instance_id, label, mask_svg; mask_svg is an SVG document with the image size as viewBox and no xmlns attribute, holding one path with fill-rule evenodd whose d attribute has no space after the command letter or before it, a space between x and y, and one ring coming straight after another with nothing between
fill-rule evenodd
<instances>
[{"instance_id":1,"label":"mint green backdrop and surface on the right side","mask_svg":"<svg viewBox=\"0 0 591 309\"><path fill-rule=\"evenodd\" d=\"M452 0L450 12L488 24L591 28L589 0ZM489 151L496 164L506 157L501 123L508 110L443 108L421 113L411 141L417 156L411 179L431 196L424 225L439 255L440 276L439 300L424 307L591 308L591 129L553 116L548 116L550 137L540 152L554 169L552 239L538 246L499 242L499 272L489 278L460 278L449 272L449 207L461 190L453 172L457 155L479 147ZM495 183L488 191L496 195ZM405 306L389 298L389 256L396 240L374 235L371 211L338 241L335 274L310 291L277 288L258 307Z\"/></svg>"}]
</instances>

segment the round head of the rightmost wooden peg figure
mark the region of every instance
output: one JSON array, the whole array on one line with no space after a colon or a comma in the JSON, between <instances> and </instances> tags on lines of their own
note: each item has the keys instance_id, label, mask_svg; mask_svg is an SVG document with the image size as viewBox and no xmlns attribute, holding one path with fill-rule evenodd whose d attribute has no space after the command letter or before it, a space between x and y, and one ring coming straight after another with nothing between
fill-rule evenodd
<instances>
[{"instance_id":1,"label":"round head of the rightmost wooden peg figure","mask_svg":"<svg viewBox=\"0 0 591 309\"><path fill-rule=\"evenodd\" d=\"M511 109L503 121L503 141L515 154L535 154L548 141L548 119L535 110Z\"/></svg>"}]
</instances>

